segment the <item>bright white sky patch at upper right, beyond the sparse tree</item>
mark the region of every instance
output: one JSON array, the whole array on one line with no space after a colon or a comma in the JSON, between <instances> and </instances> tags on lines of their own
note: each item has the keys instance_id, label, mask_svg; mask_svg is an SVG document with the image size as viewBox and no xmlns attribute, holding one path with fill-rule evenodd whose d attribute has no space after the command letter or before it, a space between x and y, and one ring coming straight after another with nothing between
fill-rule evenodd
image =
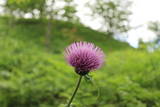
<instances>
[{"instance_id":1,"label":"bright white sky patch at upper right, beyond the sparse tree","mask_svg":"<svg viewBox=\"0 0 160 107\"><path fill-rule=\"evenodd\" d=\"M128 42L137 47L138 39L142 38L145 42L153 40L156 35L147 29L149 21L160 21L160 0L132 0L131 25L142 27L129 32Z\"/></svg>"}]
</instances>

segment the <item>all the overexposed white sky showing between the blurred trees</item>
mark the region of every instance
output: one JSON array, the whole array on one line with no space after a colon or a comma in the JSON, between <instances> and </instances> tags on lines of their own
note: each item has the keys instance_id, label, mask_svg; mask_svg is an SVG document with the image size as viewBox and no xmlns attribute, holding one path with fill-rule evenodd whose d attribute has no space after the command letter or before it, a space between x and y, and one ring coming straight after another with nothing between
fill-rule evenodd
<instances>
[{"instance_id":1,"label":"all the overexposed white sky showing between the blurred trees","mask_svg":"<svg viewBox=\"0 0 160 107\"><path fill-rule=\"evenodd\" d=\"M5 0L0 0L0 4L3 4ZM100 19L93 19L88 14L90 10L84 7L84 4L94 0L75 0L78 10L77 16L83 24L92 29L98 30L101 27ZM118 34L118 36L127 35L125 40L133 47L138 47L138 40L141 38L144 42L152 41L156 38L156 35L147 29L147 23L149 21L160 21L160 0L130 0L132 1L132 15L130 16L130 25L136 27L126 34ZM59 4L61 5L61 4ZM2 12L2 8L0 8ZM139 27L137 27L139 26Z\"/></svg>"}]
</instances>

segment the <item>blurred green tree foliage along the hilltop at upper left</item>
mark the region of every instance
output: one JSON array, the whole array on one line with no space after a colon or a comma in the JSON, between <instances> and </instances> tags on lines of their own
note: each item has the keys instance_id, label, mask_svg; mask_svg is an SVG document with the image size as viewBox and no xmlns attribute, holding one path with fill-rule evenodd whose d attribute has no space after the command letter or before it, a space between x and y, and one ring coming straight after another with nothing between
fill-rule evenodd
<instances>
[{"instance_id":1,"label":"blurred green tree foliage along the hilltop at upper left","mask_svg":"<svg viewBox=\"0 0 160 107\"><path fill-rule=\"evenodd\" d=\"M23 18L26 13L30 13L32 14L31 18L61 18L70 22L79 22L75 15L77 11L73 0L61 0L65 5L60 7L55 5L57 2L59 0L7 0L5 8L9 11L10 16L20 18ZM7 11L5 12L7 13Z\"/></svg>"}]
</instances>

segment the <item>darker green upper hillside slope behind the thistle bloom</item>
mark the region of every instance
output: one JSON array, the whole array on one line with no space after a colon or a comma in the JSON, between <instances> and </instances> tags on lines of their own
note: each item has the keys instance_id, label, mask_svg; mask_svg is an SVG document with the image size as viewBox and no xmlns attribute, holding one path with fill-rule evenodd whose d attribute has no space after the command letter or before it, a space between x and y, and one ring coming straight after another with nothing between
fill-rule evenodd
<instances>
[{"instance_id":1,"label":"darker green upper hillside slope behind the thistle bloom","mask_svg":"<svg viewBox=\"0 0 160 107\"><path fill-rule=\"evenodd\" d=\"M2 18L3 19L3 18ZM34 19L20 19L9 24L8 19L1 19L1 35L10 36L20 41L27 41L30 44L44 47L46 42L47 21ZM8 34L4 34L8 32ZM49 48L52 51L62 52L64 48L75 41L93 42L104 50L112 52L131 48L127 43L114 40L111 36L100 33L80 24L72 24L54 20L52 22L51 32L49 35Z\"/></svg>"}]
</instances>

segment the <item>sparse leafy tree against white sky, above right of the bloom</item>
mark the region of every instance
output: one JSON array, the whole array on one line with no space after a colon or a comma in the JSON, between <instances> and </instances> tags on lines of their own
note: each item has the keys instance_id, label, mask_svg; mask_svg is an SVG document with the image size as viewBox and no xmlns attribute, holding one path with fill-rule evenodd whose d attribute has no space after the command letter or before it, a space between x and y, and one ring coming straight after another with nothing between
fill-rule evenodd
<instances>
[{"instance_id":1,"label":"sparse leafy tree against white sky, above right of the bloom","mask_svg":"<svg viewBox=\"0 0 160 107\"><path fill-rule=\"evenodd\" d=\"M95 3L88 4L92 15L102 20L102 27L111 35L129 30L130 5L131 2L123 0L96 0Z\"/></svg>"}]
</instances>

